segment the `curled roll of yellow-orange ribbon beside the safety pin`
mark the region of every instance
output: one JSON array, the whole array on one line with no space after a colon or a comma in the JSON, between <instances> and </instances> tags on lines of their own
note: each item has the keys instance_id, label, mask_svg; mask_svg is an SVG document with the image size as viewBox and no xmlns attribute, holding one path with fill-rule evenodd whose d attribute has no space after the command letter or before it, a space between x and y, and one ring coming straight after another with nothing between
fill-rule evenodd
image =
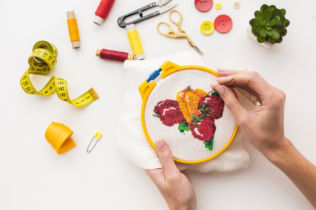
<instances>
[{"instance_id":1,"label":"curled roll of yellow-orange ribbon beside the safety pin","mask_svg":"<svg viewBox=\"0 0 316 210\"><path fill-rule=\"evenodd\" d=\"M76 147L76 143L71 138L73 133L68 126L51 122L45 131L45 138L57 154L61 155Z\"/></svg>"}]
</instances>

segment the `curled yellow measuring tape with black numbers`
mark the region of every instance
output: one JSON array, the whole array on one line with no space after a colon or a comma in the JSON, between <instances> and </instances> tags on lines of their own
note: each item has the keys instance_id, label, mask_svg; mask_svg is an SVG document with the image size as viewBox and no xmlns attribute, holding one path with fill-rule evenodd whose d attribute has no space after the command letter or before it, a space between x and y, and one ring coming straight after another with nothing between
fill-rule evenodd
<instances>
[{"instance_id":1,"label":"curled yellow measuring tape with black numbers","mask_svg":"<svg viewBox=\"0 0 316 210\"><path fill-rule=\"evenodd\" d=\"M46 41L35 43L33 53L28 59L30 67L20 79L21 87L27 94L49 96L56 92L61 100L77 107L86 106L99 98L91 88L81 96L71 100L68 94L67 80L55 76L52 76L40 91L36 91L29 74L48 75L57 62L56 57L57 48L54 44Z\"/></svg>"}]
</instances>

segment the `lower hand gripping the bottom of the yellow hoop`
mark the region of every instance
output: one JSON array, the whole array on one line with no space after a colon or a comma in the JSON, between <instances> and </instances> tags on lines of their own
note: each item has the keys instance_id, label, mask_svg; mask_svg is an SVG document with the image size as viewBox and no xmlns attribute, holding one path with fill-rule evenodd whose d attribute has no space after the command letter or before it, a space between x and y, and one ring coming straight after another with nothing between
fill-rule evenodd
<instances>
[{"instance_id":1,"label":"lower hand gripping the bottom of the yellow hoop","mask_svg":"<svg viewBox=\"0 0 316 210\"><path fill-rule=\"evenodd\" d=\"M178 170L166 141L158 140L155 146L164 168L147 169L147 175L167 201L170 210L195 210L196 197L189 177Z\"/></svg>"}]
</instances>

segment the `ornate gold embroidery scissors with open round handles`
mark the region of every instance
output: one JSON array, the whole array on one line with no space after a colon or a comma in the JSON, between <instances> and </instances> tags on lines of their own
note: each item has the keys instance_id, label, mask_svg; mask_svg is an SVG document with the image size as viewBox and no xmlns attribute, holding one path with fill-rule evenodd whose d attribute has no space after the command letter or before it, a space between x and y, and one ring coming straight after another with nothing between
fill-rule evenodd
<instances>
[{"instance_id":1,"label":"ornate gold embroidery scissors with open round handles","mask_svg":"<svg viewBox=\"0 0 316 210\"><path fill-rule=\"evenodd\" d=\"M171 14L172 13L178 13L180 15L180 20L179 21L174 21L172 20L171 18ZM191 45L191 47L193 47L194 49L196 49L196 51L198 53L200 53L201 55L204 55L203 52L201 52L201 50L199 50L199 48L197 48L197 46L195 46L195 44L193 43L193 41L191 40L191 38L188 36L188 34L181 28L181 22L182 22L182 15L181 13L178 11L178 10L172 10L170 11L169 13L169 19L171 22L173 22L174 24L176 24L178 26L178 30L180 31L177 32L175 31L173 28L171 28L171 26L169 25L169 23L166 23L166 22L160 22L158 25L157 25L157 31L159 33L161 33L162 35L166 36L166 37L169 37L169 38L173 38L173 39L186 39L188 40L189 44ZM169 27L169 31L167 33L163 33L159 30L159 27L160 25L162 24L165 24Z\"/></svg>"}]
</instances>

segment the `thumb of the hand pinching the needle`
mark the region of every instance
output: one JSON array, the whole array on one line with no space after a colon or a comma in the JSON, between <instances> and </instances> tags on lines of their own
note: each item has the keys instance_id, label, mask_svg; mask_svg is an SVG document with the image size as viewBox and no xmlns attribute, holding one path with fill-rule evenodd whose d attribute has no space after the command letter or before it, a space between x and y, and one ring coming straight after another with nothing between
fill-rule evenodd
<instances>
[{"instance_id":1,"label":"thumb of the hand pinching the needle","mask_svg":"<svg viewBox=\"0 0 316 210\"><path fill-rule=\"evenodd\" d=\"M249 116L249 112L239 103L235 93L227 86L219 85L215 90L220 94L225 105L234 115L238 124L246 121Z\"/></svg>"}]
</instances>

